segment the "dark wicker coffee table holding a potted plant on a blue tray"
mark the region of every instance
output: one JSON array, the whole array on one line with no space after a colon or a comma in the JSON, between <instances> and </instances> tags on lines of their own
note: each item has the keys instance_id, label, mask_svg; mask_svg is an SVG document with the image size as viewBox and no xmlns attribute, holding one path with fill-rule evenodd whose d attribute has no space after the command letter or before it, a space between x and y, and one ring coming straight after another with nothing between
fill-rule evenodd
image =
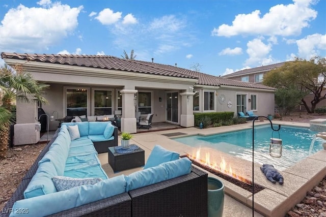
<instances>
[{"instance_id":1,"label":"dark wicker coffee table holding a potted plant on a blue tray","mask_svg":"<svg viewBox=\"0 0 326 217\"><path fill-rule=\"evenodd\" d=\"M141 147L129 153L118 153L115 147L109 147L107 152L108 164L110 164L114 172L145 165L145 151Z\"/></svg>"}]
</instances>

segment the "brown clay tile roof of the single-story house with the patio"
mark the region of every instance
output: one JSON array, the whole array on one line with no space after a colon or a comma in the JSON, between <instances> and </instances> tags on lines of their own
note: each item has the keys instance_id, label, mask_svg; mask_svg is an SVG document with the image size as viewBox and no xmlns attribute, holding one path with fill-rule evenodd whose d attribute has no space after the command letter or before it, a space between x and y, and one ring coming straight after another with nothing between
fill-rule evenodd
<instances>
[{"instance_id":1,"label":"brown clay tile roof of the single-story house with the patio","mask_svg":"<svg viewBox=\"0 0 326 217\"><path fill-rule=\"evenodd\" d=\"M61 64L79 67L90 67L98 69L109 69L126 72L136 72L152 75L162 75L180 78L198 79L199 85L210 86L237 86L258 89L275 90L261 84L241 82L201 72L187 70L175 66L151 63L141 60L130 60L107 55L66 55L66 54L20 54L20 53L1 53L3 59L19 59L27 61L37 61L40 63Z\"/></svg>"}]
</instances>

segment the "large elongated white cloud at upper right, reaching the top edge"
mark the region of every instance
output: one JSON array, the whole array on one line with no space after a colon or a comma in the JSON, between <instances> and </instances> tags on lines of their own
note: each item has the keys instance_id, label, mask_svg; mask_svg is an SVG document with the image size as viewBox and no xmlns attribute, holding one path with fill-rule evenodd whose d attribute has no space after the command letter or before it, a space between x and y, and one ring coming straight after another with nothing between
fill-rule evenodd
<instances>
[{"instance_id":1,"label":"large elongated white cloud at upper right, reaching the top edge","mask_svg":"<svg viewBox=\"0 0 326 217\"><path fill-rule=\"evenodd\" d=\"M317 17L317 11L310 8L314 0L294 0L293 4L276 5L261 16L259 10L250 14L238 14L232 25L222 24L212 30L213 36L236 35L292 36L300 35L303 28Z\"/></svg>"}]
</instances>

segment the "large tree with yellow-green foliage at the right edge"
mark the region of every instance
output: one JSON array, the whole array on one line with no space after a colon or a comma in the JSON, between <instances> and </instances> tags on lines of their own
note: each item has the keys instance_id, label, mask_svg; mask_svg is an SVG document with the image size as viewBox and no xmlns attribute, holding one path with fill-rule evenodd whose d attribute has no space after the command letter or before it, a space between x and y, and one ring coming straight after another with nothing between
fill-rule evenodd
<instances>
[{"instance_id":1,"label":"large tree with yellow-green foliage at the right edge","mask_svg":"<svg viewBox=\"0 0 326 217\"><path fill-rule=\"evenodd\" d=\"M310 60L295 58L294 61L266 73L263 84L288 90L296 87L303 94L313 94L313 100L310 102L304 99L306 95L302 97L301 105L305 106L308 113L314 113L316 105L326 99L323 91L326 84L326 58L313 57Z\"/></svg>"}]
</instances>

